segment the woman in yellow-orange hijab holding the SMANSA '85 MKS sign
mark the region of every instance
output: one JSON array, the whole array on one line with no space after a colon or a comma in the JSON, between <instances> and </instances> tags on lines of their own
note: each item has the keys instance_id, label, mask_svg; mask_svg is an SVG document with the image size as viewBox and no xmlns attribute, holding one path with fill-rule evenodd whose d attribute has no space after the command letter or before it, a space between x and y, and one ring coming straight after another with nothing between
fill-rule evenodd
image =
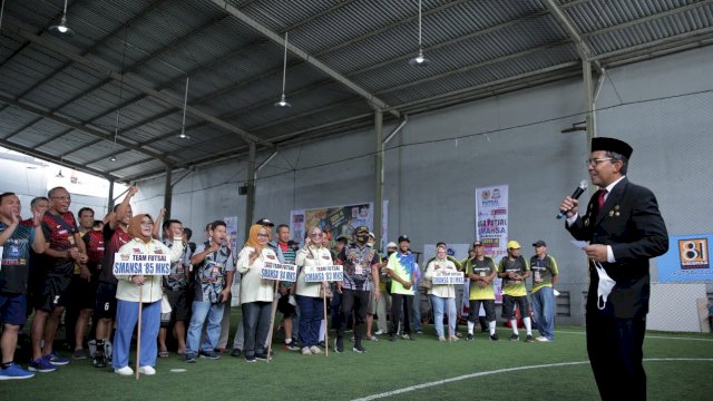
<instances>
[{"instance_id":1,"label":"woman in yellow-orange hijab holding the SMANSA '85 MKS sign","mask_svg":"<svg viewBox=\"0 0 713 401\"><path fill-rule=\"evenodd\" d=\"M169 250L160 241L152 237L154 219L147 214L131 217L128 233L131 241L119 248L124 255L169 255L170 262L177 262L184 252L183 237L174 238L174 246ZM176 246L180 244L182 246ZM156 356L158 349L156 339L160 326L160 296L162 276L120 275L116 291L116 334L114 335L114 358L111 365L114 372L121 375L131 375L134 370L129 366L129 346L134 326L138 321L138 303L141 302L141 346L139 359L139 372L141 374L156 374ZM139 297L140 288L140 297Z\"/></svg>"}]
</instances>

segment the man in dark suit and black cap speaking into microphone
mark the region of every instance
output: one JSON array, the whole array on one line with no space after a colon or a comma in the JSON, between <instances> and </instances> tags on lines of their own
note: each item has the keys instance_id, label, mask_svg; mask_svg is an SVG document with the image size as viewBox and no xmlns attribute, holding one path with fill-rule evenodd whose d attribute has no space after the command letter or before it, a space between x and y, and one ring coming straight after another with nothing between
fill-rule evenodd
<instances>
[{"instance_id":1,"label":"man in dark suit and black cap speaking into microphone","mask_svg":"<svg viewBox=\"0 0 713 401\"><path fill-rule=\"evenodd\" d=\"M590 277L587 352L603 400L646 399L642 346L651 293L648 260L668 250L656 197L626 178L632 151L622 140L594 138L587 169L600 189L584 216L569 196L559 205L567 212L567 231L589 241L584 247Z\"/></svg>"}]
</instances>

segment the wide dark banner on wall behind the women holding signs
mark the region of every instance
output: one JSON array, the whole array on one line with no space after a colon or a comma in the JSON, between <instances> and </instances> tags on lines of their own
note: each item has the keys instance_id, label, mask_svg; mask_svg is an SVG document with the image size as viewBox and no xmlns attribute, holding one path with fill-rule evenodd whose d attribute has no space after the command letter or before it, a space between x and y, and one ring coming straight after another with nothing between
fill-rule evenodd
<instances>
[{"instance_id":1,"label":"wide dark banner on wall behind the women holding signs","mask_svg":"<svg viewBox=\"0 0 713 401\"><path fill-rule=\"evenodd\" d=\"M364 225L373 232L373 202L370 202L345 206L292 211L290 212L290 232L292 233L292 239L302 244L304 242L305 229L307 227L319 226L326 235L325 239L329 242L330 247L333 246L336 238L342 235L351 242L354 228L360 225ZM381 233L382 250L384 248L383 244L387 243L388 206L389 202L384 200L381 214L383 222L383 232Z\"/></svg>"}]
</instances>

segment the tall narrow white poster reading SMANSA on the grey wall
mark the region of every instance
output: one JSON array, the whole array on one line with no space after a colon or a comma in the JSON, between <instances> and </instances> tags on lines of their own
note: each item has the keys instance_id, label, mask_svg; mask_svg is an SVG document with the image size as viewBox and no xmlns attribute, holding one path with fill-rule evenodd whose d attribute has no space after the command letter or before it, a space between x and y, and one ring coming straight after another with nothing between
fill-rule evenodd
<instances>
[{"instance_id":1,"label":"tall narrow white poster reading SMANSA on the grey wall","mask_svg":"<svg viewBox=\"0 0 713 401\"><path fill-rule=\"evenodd\" d=\"M495 185L476 188L476 238L492 257L496 266L507 255L508 186ZM502 302L502 281L495 280L495 302Z\"/></svg>"}]
</instances>

